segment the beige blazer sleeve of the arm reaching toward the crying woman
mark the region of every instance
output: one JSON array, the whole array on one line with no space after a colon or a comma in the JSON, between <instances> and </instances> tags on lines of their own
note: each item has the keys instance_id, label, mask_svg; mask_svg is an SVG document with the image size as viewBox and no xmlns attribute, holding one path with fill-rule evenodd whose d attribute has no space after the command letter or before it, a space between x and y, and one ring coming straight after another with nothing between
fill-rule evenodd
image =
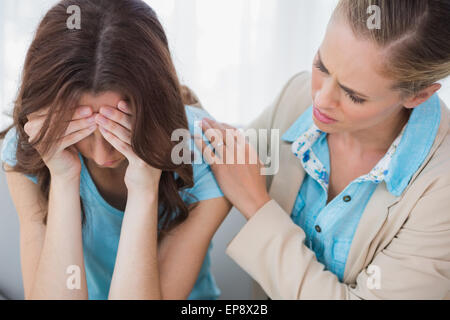
<instances>
[{"instance_id":1,"label":"beige blazer sleeve of the arm reaching toward the crying woman","mask_svg":"<svg viewBox=\"0 0 450 320\"><path fill-rule=\"evenodd\" d=\"M443 299L450 290L450 186L422 197L396 237L356 283L324 270L305 233L275 200L262 207L226 253L272 299ZM430 218L430 213L433 217Z\"/></svg>"}]
</instances>

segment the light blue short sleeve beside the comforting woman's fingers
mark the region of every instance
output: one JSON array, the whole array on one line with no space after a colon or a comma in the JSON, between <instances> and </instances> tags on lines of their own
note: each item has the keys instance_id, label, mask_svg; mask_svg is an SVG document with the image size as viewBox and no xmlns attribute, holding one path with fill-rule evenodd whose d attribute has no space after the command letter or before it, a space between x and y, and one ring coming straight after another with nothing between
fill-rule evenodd
<instances>
[{"instance_id":1,"label":"light blue short sleeve beside the comforting woman's fingers","mask_svg":"<svg viewBox=\"0 0 450 320\"><path fill-rule=\"evenodd\" d=\"M211 115L209 115L208 112L196 107L187 106L186 114L188 117L189 130L191 135L194 135L195 132L195 122L201 121L203 118L212 119ZM213 172L211 171L211 167L201 157L201 153L193 141L191 143L191 147L195 149L194 153L196 154L196 158L198 159L198 161L194 161L194 163L192 164L194 173L194 186L190 189L184 190L184 192L182 193L183 200L186 203L191 204L197 201L223 197L224 195L220 190L219 184L217 183Z\"/></svg>"}]
</instances>

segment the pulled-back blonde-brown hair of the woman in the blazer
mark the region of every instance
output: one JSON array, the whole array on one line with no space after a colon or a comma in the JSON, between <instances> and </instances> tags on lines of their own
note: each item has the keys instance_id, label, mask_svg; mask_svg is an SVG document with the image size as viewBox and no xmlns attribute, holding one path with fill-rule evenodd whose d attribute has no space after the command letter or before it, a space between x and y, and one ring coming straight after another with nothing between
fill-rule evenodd
<instances>
[{"instance_id":1,"label":"pulled-back blonde-brown hair of the woman in the blazer","mask_svg":"<svg viewBox=\"0 0 450 320\"><path fill-rule=\"evenodd\" d=\"M380 8L381 28L368 28L368 8ZM450 75L450 1L340 0L333 16L346 18L357 37L384 49L382 74L412 95Z\"/></svg>"}]
</instances>

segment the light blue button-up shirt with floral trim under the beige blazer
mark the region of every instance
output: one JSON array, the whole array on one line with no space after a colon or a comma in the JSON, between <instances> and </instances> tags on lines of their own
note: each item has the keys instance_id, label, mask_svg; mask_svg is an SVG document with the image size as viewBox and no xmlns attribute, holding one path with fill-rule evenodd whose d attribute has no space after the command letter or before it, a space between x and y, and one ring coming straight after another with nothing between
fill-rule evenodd
<instances>
[{"instance_id":1,"label":"light blue button-up shirt with floral trim under the beige blazer","mask_svg":"<svg viewBox=\"0 0 450 320\"><path fill-rule=\"evenodd\" d=\"M294 143L303 140L303 137L308 138L306 135L311 137L309 129L313 124L312 115L311 106L282 139ZM377 175L357 178L328 204L330 154L327 134L318 132L318 136L311 141L312 146L296 155L300 158L299 165L305 168L306 174L291 218L305 232L304 244L314 251L325 270L334 273L340 281L344 279L348 253L359 221L375 189L380 183L385 183L387 190L394 196L398 197L403 193L429 154L440 120L440 102L435 94L413 110L400 143L390 158L389 167L383 169L380 175L382 178ZM392 151L392 148L390 150ZM311 160L314 163L311 163ZM306 167L308 163L319 166L311 171ZM377 168L378 166L374 169ZM373 172L376 170L371 171Z\"/></svg>"}]
</instances>

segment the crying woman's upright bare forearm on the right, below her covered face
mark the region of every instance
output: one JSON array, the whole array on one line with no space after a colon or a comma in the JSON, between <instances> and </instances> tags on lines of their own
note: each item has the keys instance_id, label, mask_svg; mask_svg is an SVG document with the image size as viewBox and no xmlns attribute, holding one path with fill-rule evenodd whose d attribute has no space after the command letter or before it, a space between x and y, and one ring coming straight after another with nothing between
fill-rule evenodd
<instances>
[{"instance_id":1,"label":"crying woman's upright bare forearm on the right, below her covered face","mask_svg":"<svg viewBox=\"0 0 450 320\"><path fill-rule=\"evenodd\" d=\"M161 299L157 230L157 196L130 191L109 299Z\"/></svg>"}]
</instances>

